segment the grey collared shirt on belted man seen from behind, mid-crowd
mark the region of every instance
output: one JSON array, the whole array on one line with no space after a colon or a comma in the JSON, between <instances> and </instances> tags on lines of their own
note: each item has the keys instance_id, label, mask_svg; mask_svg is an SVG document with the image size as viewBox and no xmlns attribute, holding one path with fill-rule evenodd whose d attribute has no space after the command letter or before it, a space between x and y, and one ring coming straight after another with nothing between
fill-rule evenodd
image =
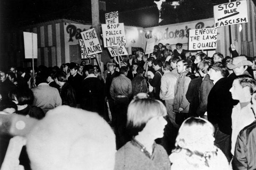
<instances>
[{"instance_id":1,"label":"grey collared shirt on belted man seen from behind, mid-crowd","mask_svg":"<svg viewBox=\"0 0 256 170\"><path fill-rule=\"evenodd\" d=\"M115 77L111 83L110 95L113 99L118 95L130 97L132 94L131 80L128 79L124 74L120 74Z\"/></svg>"}]
</instances>

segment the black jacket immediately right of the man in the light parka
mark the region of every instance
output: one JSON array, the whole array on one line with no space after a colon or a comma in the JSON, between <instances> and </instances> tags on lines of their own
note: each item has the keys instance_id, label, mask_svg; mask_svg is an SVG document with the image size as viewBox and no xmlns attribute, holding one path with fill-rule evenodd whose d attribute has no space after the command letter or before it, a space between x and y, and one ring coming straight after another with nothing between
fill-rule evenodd
<instances>
[{"instance_id":1,"label":"black jacket immediately right of the man in the light parka","mask_svg":"<svg viewBox=\"0 0 256 170\"><path fill-rule=\"evenodd\" d=\"M199 106L199 97L198 97L198 91L202 83L202 77L198 77L196 79L192 79L189 83L189 88L186 93L186 98L188 99L190 105L189 105L189 116L198 116L196 114L196 111Z\"/></svg>"}]
</instances>

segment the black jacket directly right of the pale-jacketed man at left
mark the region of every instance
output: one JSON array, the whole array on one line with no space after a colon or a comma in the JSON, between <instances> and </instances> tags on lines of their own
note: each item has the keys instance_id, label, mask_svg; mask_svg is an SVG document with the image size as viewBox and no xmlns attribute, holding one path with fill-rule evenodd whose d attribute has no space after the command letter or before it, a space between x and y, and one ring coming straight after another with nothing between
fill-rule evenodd
<instances>
[{"instance_id":1,"label":"black jacket directly right of the pale-jacketed man at left","mask_svg":"<svg viewBox=\"0 0 256 170\"><path fill-rule=\"evenodd\" d=\"M62 105L68 105L76 108L76 91L66 82L61 88Z\"/></svg>"}]
</instances>

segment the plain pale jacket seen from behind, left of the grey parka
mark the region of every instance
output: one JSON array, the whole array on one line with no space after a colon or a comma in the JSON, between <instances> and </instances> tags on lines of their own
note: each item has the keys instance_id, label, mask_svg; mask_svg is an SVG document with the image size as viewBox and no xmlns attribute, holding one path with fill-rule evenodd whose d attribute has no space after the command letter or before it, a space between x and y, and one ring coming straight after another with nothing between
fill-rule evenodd
<instances>
[{"instance_id":1,"label":"plain pale jacket seen from behind, left of the grey parka","mask_svg":"<svg viewBox=\"0 0 256 170\"><path fill-rule=\"evenodd\" d=\"M163 74L161 78L160 99L169 100L174 99L175 85L177 83L177 75L168 71Z\"/></svg>"}]
</instances>

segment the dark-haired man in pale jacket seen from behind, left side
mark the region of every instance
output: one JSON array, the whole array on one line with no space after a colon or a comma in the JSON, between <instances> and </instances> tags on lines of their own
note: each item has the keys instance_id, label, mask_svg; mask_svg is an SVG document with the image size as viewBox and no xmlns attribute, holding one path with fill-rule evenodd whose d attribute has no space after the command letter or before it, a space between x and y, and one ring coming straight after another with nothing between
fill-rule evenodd
<instances>
[{"instance_id":1,"label":"dark-haired man in pale jacket seen from behind, left side","mask_svg":"<svg viewBox=\"0 0 256 170\"><path fill-rule=\"evenodd\" d=\"M47 75L38 73L35 78L37 87L32 88L34 94L33 105L41 108L44 113L62 104L61 96L56 88L47 83Z\"/></svg>"}]
</instances>

